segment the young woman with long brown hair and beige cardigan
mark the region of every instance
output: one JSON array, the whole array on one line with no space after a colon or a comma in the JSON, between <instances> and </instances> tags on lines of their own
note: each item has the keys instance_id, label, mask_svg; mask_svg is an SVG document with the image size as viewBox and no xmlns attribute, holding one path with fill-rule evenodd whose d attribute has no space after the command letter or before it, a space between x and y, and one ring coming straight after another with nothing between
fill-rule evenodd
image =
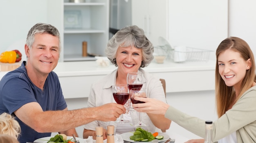
<instances>
[{"instance_id":1,"label":"young woman with long brown hair and beige cardigan","mask_svg":"<svg viewBox=\"0 0 256 143\"><path fill-rule=\"evenodd\" d=\"M223 40L216 50L216 106L213 141L218 143L256 142L255 61L249 45L238 37ZM135 110L163 114L186 130L204 137L205 121L192 117L156 99L135 98L146 102L132 104ZM187 143L204 143L204 139Z\"/></svg>"}]
</instances>

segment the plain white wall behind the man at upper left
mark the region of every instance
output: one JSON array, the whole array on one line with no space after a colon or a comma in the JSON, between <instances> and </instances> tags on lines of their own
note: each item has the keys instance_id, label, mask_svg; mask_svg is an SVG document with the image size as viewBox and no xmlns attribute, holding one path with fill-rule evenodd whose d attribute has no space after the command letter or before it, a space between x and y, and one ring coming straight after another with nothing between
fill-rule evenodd
<instances>
[{"instance_id":1,"label":"plain white wall behind the man at upper left","mask_svg":"<svg viewBox=\"0 0 256 143\"><path fill-rule=\"evenodd\" d=\"M47 3L45 0L1 0L0 17L0 53L11 45L11 50L22 49L22 52L29 29L38 22L47 22Z\"/></svg>"}]
</instances>

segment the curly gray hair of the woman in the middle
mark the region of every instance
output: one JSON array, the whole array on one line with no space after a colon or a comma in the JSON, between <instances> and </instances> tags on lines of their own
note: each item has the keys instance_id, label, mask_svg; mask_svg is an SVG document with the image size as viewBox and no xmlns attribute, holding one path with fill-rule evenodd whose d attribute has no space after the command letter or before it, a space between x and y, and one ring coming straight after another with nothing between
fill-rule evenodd
<instances>
[{"instance_id":1,"label":"curly gray hair of the woman in the middle","mask_svg":"<svg viewBox=\"0 0 256 143\"><path fill-rule=\"evenodd\" d=\"M134 45L136 48L142 49L143 60L140 67L146 67L153 60L153 44L145 36L144 31L138 26L126 26L120 29L108 41L105 54L108 59L117 66L116 53L119 46L130 47Z\"/></svg>"}]
</instances>

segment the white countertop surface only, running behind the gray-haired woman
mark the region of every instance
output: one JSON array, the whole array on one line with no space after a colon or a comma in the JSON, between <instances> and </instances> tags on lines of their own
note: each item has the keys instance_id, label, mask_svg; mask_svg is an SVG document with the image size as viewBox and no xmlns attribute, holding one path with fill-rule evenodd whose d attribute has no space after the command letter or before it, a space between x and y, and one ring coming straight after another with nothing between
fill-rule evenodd
<instances>
[{"instance_id":1,"label":"white countertop surface only, running behind the gray-haired woman","mask_svg":"<svg viewBox=\"0 0 256 143\"><path fill-rule=\"evenodd\" d=\"M116 68L117 67L112 64L108 67L99 67L95 61L59 62L54 72L56 72L59 77L106 75ZM165 61L162 64L152 62L142 69L150 73L215 70L215 61L185 63Z\"/></svg>"}]
</instances>

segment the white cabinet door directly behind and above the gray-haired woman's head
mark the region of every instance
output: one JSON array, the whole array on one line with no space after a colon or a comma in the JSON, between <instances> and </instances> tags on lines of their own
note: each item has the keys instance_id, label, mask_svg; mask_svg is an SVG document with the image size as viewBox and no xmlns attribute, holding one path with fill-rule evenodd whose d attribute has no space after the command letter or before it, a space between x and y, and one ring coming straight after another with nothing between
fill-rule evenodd
<instances>
[{"instance_id":1,"label":"white cabinet door directly behind and above the gray-haired woman's head","mask_svg":"<svg viewBox=\"0 0 256 143\"><path fill-rule=\"evenodd\" d=\"M158 45L158 37L167 39L168 0L132 0L132 25L142 28L145 35Z\"/></svg>"}]
</instances>

